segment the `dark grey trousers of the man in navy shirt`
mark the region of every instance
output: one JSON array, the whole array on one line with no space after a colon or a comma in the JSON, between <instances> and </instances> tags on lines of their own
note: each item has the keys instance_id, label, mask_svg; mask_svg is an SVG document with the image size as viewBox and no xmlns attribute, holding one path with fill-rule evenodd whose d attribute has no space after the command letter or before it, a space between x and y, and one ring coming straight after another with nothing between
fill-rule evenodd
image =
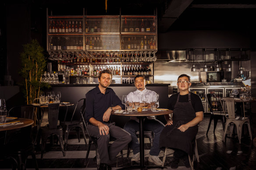
<instances>
[{"instance_id":1,"label":"dark grey trousers of the man in navy shirt","mask_svg":"<svg viewBox=\"0 0 256 170\"><path fill-rule=\"evenodd\" d=\"M99 128L91 124L87 125L87 129L90 136L98 139L100 163L110 164L124 146L131 142L132 138L128 132L115 126L114 123L107 123L106 125L109 127L108 135L100 135ZM109 145L110 136L116 139L111 145Z\"/></svg>"}]
</instances>

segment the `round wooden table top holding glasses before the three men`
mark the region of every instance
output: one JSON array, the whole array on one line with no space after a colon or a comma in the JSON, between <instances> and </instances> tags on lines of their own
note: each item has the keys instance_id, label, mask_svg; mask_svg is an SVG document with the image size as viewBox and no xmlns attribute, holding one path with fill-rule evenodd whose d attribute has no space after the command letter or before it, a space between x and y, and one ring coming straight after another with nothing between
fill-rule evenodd
<instances>
[{"instance_id":1,"label":"round wooden table top holding glasses before the three men","mask_svg":"<svg viewBox=\"0 0 256 170\"><path fill-rule=\"evenodd\" d=\"M150 108L147 108L146 111L132 111L127 114L118 113L111 111L111 114L119 115L119 116L158 116L158 115L164 115L164 114L171 114L171 110L158 110L158 112L151 111Z\"/></svg>"}]
</instances>

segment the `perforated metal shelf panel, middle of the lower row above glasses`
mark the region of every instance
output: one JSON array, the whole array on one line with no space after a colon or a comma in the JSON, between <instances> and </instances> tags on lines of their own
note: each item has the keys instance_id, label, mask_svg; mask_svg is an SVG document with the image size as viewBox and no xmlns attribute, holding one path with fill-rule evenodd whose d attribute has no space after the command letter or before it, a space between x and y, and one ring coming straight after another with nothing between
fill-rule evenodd
<instances>
[{"instance_id":1,"label":"perforated metal shelf panel, middle of the lower row above glasses","mask_svg":"<svg viewBox=\"0 0 256 170\"><path fill-rule=\"evenodd\" d=\"M119 51L119 34L85 34L86 51Z\"/></svg>"}]
</instances>

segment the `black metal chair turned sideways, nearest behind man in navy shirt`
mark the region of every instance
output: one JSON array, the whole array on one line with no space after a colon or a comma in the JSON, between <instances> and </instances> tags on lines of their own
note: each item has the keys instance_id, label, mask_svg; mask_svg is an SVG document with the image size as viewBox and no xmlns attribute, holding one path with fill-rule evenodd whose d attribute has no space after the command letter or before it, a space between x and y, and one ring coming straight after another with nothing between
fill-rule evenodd
<instances>
[{"instance_id":1,"label":"black metal chair turned sideways, nearest behind man in navy shirt","mask_svg":"<svg viewBox=\"0 0 256 170\"><path fill-rule=\"evenodd\" d=\"M74 120L73 119L74 114L75 114L76 108L77 108L80 101L83 101L83 105L80 108L80 112L81 112L81 114L79 116L80 118L79 118L79 120ZM72 117L71 117L70 121L66 121L67 114L65 114L64 121L60 122L60 126L63 128L63 132L64 132L64 141L65 141L64 148L65 148L65 150L67 150L69 132L73 128L75 128L75 130L76 130L77 137L78 137L78 142L80 142L80 129L82 130L82 134L83 134L83 137L84 137L84 140L85 140L85 145L87 145L87 142L86 142L86 139L85 139L84 126L83 126L83 122L82 122L82 116L84 116L83 113L85 111L85 101L86 101L86 99L82 98L76 103L75 110L72 114Z\"/></svg>"}]
</instances>

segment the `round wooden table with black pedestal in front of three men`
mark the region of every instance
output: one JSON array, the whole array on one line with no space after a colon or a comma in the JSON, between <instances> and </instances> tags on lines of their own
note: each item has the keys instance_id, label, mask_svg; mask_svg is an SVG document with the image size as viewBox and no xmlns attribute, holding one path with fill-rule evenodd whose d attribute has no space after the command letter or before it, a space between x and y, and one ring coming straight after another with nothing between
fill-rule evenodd
<instances>
[{"instance_id":1,"label":"round wooden table with black pedestal in front of three men","mask_svg":"<svg viewBox=\"0 0 256 170\"><path fill-rule=\"evenodd\" d=\"M146 170L147 168L163 168L161 166L145 166L145 156L144 156L144 129L143 129L143 124L144 121L143 119L146 118L146 116L158 116L158 115L164 115L164 114L171 114L172 111L168 109L163 109L163 110L158 110L158 112L153 112L151 111L150 108L146 109L146 111L132 111L127 114L123 113L118 113L111 111L111 114L114 115L119 115L119 116L137 116L139 119L139 149L140 149L140 165L138 166L132 166L132 167L124 167L121 168L120 170L124 169L141 169L141 170Z\"/></svg>"}]
</instances>

